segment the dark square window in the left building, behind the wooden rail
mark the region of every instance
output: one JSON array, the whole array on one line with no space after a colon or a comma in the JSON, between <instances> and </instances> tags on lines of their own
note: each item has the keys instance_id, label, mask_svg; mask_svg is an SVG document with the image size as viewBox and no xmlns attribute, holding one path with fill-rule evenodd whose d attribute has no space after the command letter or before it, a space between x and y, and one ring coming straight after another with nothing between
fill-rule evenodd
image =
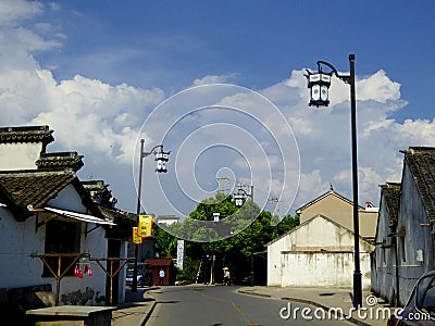
<instances>
[{"instance_id":1,"label":"dark square window in the left building, behind the wooden rail","mask_svg":"<svg viewBox=\"0 0 435 326\"><path fill-rule=\"evenodd\" d=\"M52 220L46 224L46 252L45 253L78 253L80 247L80 223ZM54 273L58 272L59 260L48 258ZM62 258L61 273L73 262L73 258ZM67 276L74 275L74 268L70 268ZM42 276L52 276L45 265Z\"/></svg>"}]
</instances>

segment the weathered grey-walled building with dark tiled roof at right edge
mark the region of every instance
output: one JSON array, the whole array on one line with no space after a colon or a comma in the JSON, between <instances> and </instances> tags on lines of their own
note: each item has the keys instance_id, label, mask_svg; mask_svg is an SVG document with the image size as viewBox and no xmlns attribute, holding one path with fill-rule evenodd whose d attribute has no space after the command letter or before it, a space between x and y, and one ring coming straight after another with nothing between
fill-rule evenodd
<instances>
[{"instance_id":1,"label":"weathered grey-walled building with dark tiled roof at right edge","mask_svg":"<svg viewBox=\"0 0 435 326\"><path fill-rule=\"evenodd\" d=\"M374 290L395 304L403 304L420 276L434 269L435 254L435 148L410 147L401 152L400 190L396 185L394 193L398 202L388 202L388 184L384 186L372 262Z\"/></svg>"}]
</instances>

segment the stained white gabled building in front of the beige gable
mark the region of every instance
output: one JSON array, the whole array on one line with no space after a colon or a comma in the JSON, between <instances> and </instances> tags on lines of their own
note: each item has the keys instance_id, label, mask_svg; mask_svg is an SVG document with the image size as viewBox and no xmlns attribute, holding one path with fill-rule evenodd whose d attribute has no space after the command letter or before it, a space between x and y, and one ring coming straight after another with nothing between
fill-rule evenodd
<instances>
[{"instance_id":1,"label":"stained white gabled building in front of the beige gable","mask_svg":"<svg viewBox=\"0 0 435 326\"><path fill-rule=\"evenodd\" d=\"M268 243L268 286L352 287L353 233L318 215ZM360 237L362 286L370 288L370 253Z\"/></svg>"}]
</instances>

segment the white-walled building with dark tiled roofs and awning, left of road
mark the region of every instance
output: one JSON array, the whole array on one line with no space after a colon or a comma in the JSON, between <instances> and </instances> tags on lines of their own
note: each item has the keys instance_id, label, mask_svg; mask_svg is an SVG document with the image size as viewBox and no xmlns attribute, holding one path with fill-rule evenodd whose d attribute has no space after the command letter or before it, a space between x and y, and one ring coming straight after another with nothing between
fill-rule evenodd
<instances>
[{"instance_id":1,"label":"white-walled building with dark tiled roofs and awning, left of road","mask_svg":"<svg viewBox=\"0 0 435 326\"><path fill-rule=\"evenodd\" d=\"M60 303L104 303L107 275L92 259L108 256L110 237L125 254L127 238L78 179L83 156L48 153L53 140L48 126L0 128L0 288L49 284Z\"/></svg>"}]
</instances>

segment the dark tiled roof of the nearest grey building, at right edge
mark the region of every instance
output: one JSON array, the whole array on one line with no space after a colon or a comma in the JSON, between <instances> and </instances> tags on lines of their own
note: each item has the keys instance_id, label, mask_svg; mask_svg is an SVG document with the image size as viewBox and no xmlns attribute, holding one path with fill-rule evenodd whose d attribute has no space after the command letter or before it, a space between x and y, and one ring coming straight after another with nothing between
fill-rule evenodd
<instances>
[{"instance_id":1,"label":"dark tiled roof of the nearest grey building, at right edge","mask_svg":"<svg viewBox=\"0 0 435 326\"><path fill-rule=\"evenodd\" d=\"M427 217L435 222L435 148L410 147L401 152L405 153L405 162L414 178Z\"/></svg>"}]
</instances>

